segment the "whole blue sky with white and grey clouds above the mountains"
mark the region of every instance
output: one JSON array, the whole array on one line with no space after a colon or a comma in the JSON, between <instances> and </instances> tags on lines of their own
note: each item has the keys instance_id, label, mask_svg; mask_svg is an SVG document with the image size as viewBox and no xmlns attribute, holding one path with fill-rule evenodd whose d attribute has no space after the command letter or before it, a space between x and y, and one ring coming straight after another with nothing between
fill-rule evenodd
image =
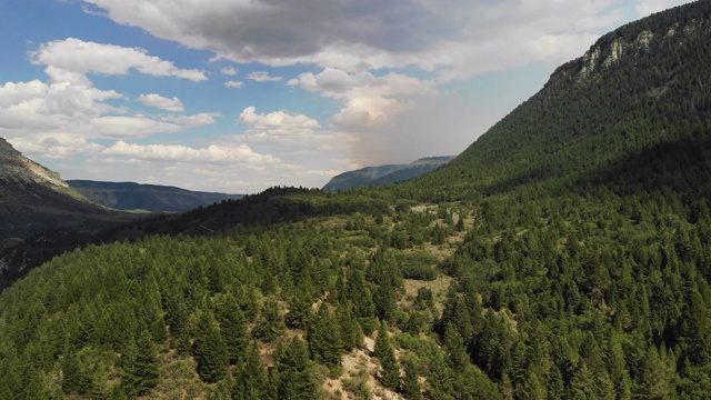
<instances>
[{"instance_id":1,"label":"whole blue sky with white and grey clouds above the mountains","mask_svg":"<svg viewBox=\"0 0 711 400\"><path fill-rule=\"evenodd\" d=\"M254 193L462 152L688 0L0 0L0 137L64 179Z\"/></svg>"}]
</instances>

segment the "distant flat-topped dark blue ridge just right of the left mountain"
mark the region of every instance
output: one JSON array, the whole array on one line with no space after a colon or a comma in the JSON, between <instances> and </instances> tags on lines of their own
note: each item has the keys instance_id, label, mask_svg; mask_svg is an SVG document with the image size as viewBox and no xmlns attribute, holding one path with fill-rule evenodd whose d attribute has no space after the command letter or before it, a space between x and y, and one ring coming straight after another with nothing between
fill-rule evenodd
<instances>
[{"instance_id":1,"label":"distant flat-topped dark blue ridge just right of the left mountain","mask_svg":"<svg viewBox=\"0 0 711 400\"><path fill-rule=\"evenodd\" d=\"M68 180L67 183L90 200L118 210L184 212L222 200L238 200L243 197L134 182Z\"/></svg>"}]
</instances>

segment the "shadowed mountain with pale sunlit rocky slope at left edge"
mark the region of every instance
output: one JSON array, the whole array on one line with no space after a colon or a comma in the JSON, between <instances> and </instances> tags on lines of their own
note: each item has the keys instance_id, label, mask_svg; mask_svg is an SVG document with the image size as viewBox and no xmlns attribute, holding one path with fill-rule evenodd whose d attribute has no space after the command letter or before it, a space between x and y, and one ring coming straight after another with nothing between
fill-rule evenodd
<instances>
[{"instance_id":1,"label":"shadowed mountain with pale sunlit rocky slope at left edge","mask_svg":"<svg viewBox=\"0 0 711 400\"><path fill-rule=\"evenodd\" d=\"M136 218L91 202L0 138L0 289L52 256Z\"/></svg>"}]
</instances>

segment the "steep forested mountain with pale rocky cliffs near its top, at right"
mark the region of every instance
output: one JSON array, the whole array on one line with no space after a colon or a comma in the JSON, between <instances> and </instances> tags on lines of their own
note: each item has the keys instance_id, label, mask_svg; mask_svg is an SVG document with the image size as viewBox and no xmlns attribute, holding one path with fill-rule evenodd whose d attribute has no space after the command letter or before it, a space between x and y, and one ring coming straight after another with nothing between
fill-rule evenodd
<instances>
[{"instance_id":1,"label":"steep forested mountain with pale rocky cliffs near its top, at right","mask_svg":"<svg viewBox=\"0 0 711 400\"><path fill-rule=\"evenodd\" d=\"M460 157L412 184L453 198L569 186L664 143L705 142L709 7L671 9L603 36Z\"/></svg>"}]
</instances>

